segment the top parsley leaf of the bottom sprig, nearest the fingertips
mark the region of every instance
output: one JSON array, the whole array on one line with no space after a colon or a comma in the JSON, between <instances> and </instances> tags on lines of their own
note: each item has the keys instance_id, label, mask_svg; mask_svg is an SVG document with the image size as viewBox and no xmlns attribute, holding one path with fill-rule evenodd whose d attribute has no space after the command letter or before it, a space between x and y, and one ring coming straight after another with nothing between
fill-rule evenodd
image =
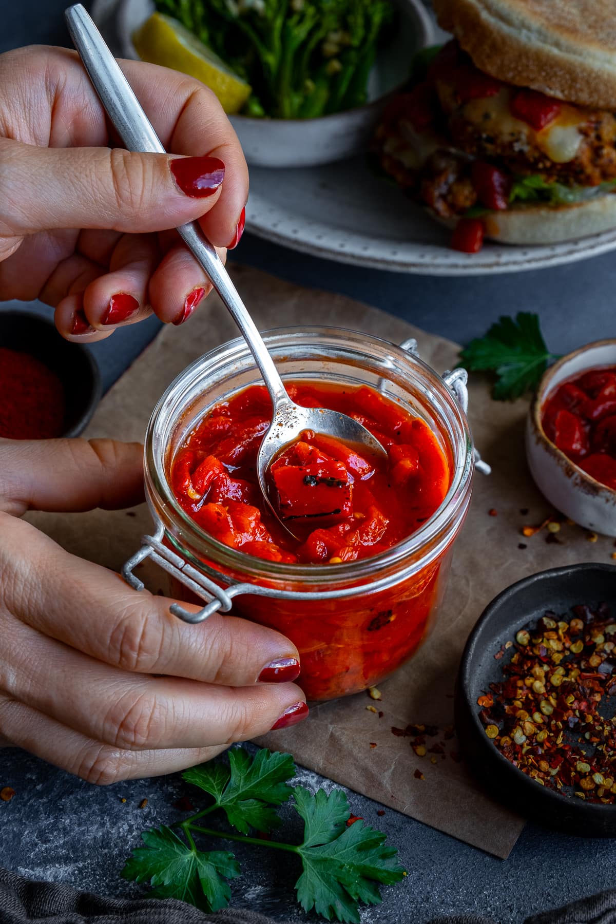
<instances>
[{"instance_id":1,"label":"top parsley leaf of the bottom sprig, nearest the fingertips","mask_svg":"<svg viewBox=\"0 0 616 924\"><path fill-rule=\"evenodd\" d=\"M214 797L229 824L248 834L251 828L270 832L280 825L272 806L282 805L293 790L287 784L296 774L290 754L270 753L261 748L251 758L244 748L229 751L229 766L205 763L183 773L187 783Z\"/></svg>"}]
</instances>

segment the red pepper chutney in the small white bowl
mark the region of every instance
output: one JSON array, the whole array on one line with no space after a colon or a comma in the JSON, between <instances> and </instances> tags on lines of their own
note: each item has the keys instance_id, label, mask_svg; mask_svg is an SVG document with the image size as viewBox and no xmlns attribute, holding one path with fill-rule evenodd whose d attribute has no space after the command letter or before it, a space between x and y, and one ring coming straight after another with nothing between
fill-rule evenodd
<instances>
[{"instance_id":1,"label":"red pepper chutney in the small white bowl","mask_svg":"<svg viewBox=\"0 0 616 924\"><path fill-rule=\"evenodd\" d=\"M543 407L546 436L592 478L616 490L616 367L563 382Z\"/></svg>"}]
</instances>

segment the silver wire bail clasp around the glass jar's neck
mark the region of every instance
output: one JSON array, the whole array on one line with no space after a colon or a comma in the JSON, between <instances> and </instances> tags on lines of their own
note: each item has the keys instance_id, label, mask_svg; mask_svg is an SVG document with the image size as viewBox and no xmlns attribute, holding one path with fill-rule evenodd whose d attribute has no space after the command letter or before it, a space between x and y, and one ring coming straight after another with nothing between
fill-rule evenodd
<instances>
[{"instance_id":1,"label":"silver wire bail clasp around the glass jar's neck","mask_svg":"<svg viewBox=\"0 0 616 924\"><path fill-rule=\"evenodd\" d=\"M419 351L415 337L409 337L408 340L400 344L400 347L406 350L407 353L410 353L412 356L417 356L418 358ZM468 390L466 388L468 372L465 369L454 369L453 371L443 372L441 378L460 404L460 407L462 407L463 411L466 413L468 408ZM382 389L384 380L380 380L379 386L380 389ZM481 459L477 449L475 450L475 468L484 475L489 475L491 471L489 465ZM197 613L191 613L183 606L180 606L179 603L172 603L169 607L170 613L182 619L185 623L196 625L204 622L211 614L217 613L218 611L221 613L228 613L233 606L234 597L238 597L245 593L260 597L271 597L278 600L321 601L348 597L356 593L357 590L356 587L347 587L340 590L313 590L302 592L296 590L276 590L274 588L261 587L260 584L237 582L231 583L227 588L223 588L213 581L211 577L207 577L202 571L199 571L197 568L193 567L193 565L189 565L181 555L176 554L164 545L163 523L155 523L155 526L156 531L154 535L143 536L139 551L131 555L123 565L122 577L124 577L127 584L134 588L134 590L143 590L143 581L139 580L139 577L134 574L134 569L147 558L150 558L152 562L163 568L163 571L166 571L171 577L175 577L175 579L181 584L184 584L188 590L192 590L194 594L206 602L206 605L198 610ZM397 584L403 577L404 575L401 576L400 574L381 577L379 580L375 580L369 584L368 587L364 589L364 592L375 593L379 590L387 590L393 584Z\"/></svg>"}]
</instances>

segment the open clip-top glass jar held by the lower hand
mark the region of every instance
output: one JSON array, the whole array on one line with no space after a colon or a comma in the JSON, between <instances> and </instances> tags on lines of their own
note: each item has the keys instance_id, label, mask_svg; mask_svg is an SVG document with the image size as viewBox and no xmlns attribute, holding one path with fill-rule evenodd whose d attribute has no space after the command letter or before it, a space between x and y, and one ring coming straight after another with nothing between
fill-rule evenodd
<instances>
[{"instance_id":1,"label":"open clip-top glass jar held by the lower hand","mask_svg":"<svg viewBox=\"0 0 616 924\"><path fill-rule=\"evenodd\" d=\"M157 531L146 537L124 573L139 587L132 568L150 554L175 577L176 595L191 602L217 598L197 616L172 607L189 621L214 609L228 610L233 601L237 614L272 626L296 644L302 668L298 682L308 700L333 699L379 683L428 636L470 501L473 444L465 408L441 376L413 353L368 334L334 328L284 328L264 339L284 379L367 384L423 418L450 461L452 480L443 503L405 541L339 565L254 558L200 529L175 500L169 472L176 450L213 405L260 383L248 346L239 338L188 366L154 409L145 444L145 482Z\"/></svg>"}]
</instances>

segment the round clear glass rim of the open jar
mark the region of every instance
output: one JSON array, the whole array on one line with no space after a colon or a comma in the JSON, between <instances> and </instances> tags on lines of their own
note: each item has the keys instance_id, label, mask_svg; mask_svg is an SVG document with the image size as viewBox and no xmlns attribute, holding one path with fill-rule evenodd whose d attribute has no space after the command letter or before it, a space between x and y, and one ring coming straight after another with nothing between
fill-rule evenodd
<instances>
[{"instance_id":1,"label":"round clear glass rim of the open jar","mask_svg":"<svg viewBox=\"0 0 616 924\"><path fill-rule=\"evenodd\" d=\"M296 563L288 564L256 558L242 552L241 549L233 549L225 545L223 542L214 539L204 529L201 529L199 524L187 514L175 498L165 471L165 446L162 444L163 451L156 452L154 449L155 436L163 428L166 428L167 432L170 431L173 422L179 419L182 410L186 407L181 404L182 395L187 392L189 386L194 386L217 361L224 359L226 363L239 363L240 360L249 359L252 362L252 367L247 368L252 368L257 372L257 367L254 365L248 345L243 337L236 337L220 346L215 346L208 353L188 365L175 377L175 380L167 387L156 407L154 407L146 432L144 448L148 499L154 517L161 517L163 513L168 522L179 523L182 536L187 538L191 548L210 562L215 563L216 567L222 566L223 569L241 573L243 576L251 575L259 579L272 578L283 582L303 582L308 585L319 584L322 586L326 583L331 585L341 581L356 581L363 577L369 577L376 570L398 565L430 544L435 542L439 544L439 537L447 532L450 526L457 523L461 507L465 507L465 500L467 500L468 488L474 469L474 446L470 428L465 412L451 389L438 372L434 371L428 363L423 359L419 359L415 354L381 337L343 327L304 327L297 325L273 328L263 332L262 335L266 344L272 349L272 346L283 346L280 341L287 338L292 338L288 346L296 346L298 333L302 335L302 341L306 339L314 343L315 340L323 339L329 341L331 346L336 344L340 346L342 342L347 345L350 342L353 345L355 341L356 348L359 348L364 357L368 356L368 348L371 347L373 351L380 353L381 358L398 360L403 366L408 367L409 371L412 370L416 373L418 371L421 379L429 386L430 394L438 396L441 402L438 410L441 415L448 419L450 425L453 425L458 452L457 462L456 454L454 454L453 477L449 490L434 514L414 533L406 537L405 540L397 542L389 549L385 549L376 555L356 559L356 561L333 565L329 563L326 565L298 565ZM278 341L278 343L275 344L274 341ZM326 344L323 344L324 348L326 346ZM409 377L409 385L410 383L411 379ZM454 448L456 447L451 447L452 451ZM166 525L165 531L167 531Z\"/></svg>"}]
</instances>

